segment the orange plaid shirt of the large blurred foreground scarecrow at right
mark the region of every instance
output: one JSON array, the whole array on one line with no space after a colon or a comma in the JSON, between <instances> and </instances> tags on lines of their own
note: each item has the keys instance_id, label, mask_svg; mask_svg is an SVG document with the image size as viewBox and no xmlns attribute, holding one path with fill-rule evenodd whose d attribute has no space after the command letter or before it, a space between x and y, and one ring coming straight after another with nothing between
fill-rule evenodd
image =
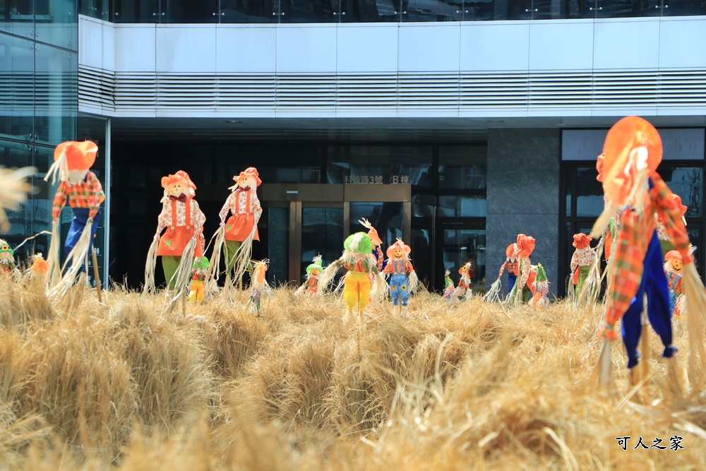
<instances>
[{"instance_id":1,"label":"orange plaid shirt of the large blurred foreground scarecrow at right","mask_svg":"<svg viewBox=\"0 0 706 471\"><path fill-rule=\"evenodd\" d=\"M652 188L645 195L645 209L642 214L627 208L621 214L621 228L618 240L614 242L615 265L609 274L611 292L606 306L606 324L602 335L614 339L613 326L626 313L642 280L642 264L650 244L657 213L664 223L667 234L681 253L684 263L692 263L693 256L689 248L689 236L681 220L681 209L671 198L671 191L657 172L650 177Z\"/></svg>"}]
</instances>

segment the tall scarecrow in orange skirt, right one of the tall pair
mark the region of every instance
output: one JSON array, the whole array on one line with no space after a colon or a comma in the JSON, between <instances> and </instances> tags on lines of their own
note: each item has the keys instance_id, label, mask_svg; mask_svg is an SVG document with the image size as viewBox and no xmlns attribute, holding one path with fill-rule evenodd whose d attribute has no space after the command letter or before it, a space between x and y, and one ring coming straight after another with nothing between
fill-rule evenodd
<instances>
[{"instance_id":1,"label":"tall scarecrow in orange skirt, right one of the tall pair","mask_svg":"<svg viewBox=\"0 0 706 471\"><path fill-rule=\"evenodd\" d=\"M213 263L208 278L218 278L220 252L223 251L226 273L230 275L235 269L232 280L240 280L245 270L252 270L250 257L253 252L253 240L260 240L258 222L263 213L257 193L257 187L262 184L260 173L255 167L248 167L240 174L234 175L233 180L235 184L229 187L231 193L218 213L221 222L216 232L211 257ZM230 217L228 213L231 214Z\"/></svg>"}]
</instances>

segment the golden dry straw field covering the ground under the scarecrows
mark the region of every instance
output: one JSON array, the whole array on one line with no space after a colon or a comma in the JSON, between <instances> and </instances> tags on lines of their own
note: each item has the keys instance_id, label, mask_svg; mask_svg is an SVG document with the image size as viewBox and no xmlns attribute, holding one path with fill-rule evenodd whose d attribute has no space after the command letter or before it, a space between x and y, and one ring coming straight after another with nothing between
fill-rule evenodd
<instances>
[{"instance_id":1,"label":"golden dry straw field covering the ground under the scarecrows","mask_svg":"<svg viewBox=\"0 0 706 471\"><path fill-rule=\"evenodd\" d=\"M361 326L286 288L258 319L246 292L167 314L159 297L89 292L68 315L3 283L2 470L706 469L706 397L663 392L654 333L640 393L619 342L615 393L597 390L598 319L567 302L419 294ZM640 436L667 448L633 449Z\"/></svg>"}]
</instances>

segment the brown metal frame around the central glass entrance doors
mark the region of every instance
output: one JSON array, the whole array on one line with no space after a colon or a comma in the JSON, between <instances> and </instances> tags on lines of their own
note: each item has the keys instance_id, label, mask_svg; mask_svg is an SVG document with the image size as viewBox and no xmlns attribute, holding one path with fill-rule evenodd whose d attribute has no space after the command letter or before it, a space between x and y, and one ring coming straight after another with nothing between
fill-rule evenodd
<instances>
[{"instance_id":1,"label":"brown metal frame around the central glass entrance doors","mask_svg":"<svg viewBox=\"0 0 706 471\"><path fill-rule=\"evenodd\" d=\"M265 207L289 204L289 282L301 284L301 226L304 208L343 208L350 227L350 203L403 203L402 238L412 236L412 185L409 184L262 184L258 198ZM340 241L343 246L343 239ZM269 252L269 247L265 248ZM330 261L328 261L330 263Z\"/></svg>"}]
</instances>

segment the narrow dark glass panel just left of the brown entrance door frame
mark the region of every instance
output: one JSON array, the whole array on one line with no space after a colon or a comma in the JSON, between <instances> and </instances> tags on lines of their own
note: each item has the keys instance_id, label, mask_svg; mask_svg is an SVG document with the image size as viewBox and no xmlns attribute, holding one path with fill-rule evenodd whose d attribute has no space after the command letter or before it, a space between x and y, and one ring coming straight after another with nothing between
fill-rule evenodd
<instances>
[{"instance_id":1,"label":"narrow dark glass panel just left of the brown entrance door frame","mask_svg":"<svg viewBox=\"0 0 706 471\"><path fill-rule=\"evenodd\" d=\"M270 285L289 280L289 208L266 208L268 227L267 279Z\"/></svg>"}]
</instances>

